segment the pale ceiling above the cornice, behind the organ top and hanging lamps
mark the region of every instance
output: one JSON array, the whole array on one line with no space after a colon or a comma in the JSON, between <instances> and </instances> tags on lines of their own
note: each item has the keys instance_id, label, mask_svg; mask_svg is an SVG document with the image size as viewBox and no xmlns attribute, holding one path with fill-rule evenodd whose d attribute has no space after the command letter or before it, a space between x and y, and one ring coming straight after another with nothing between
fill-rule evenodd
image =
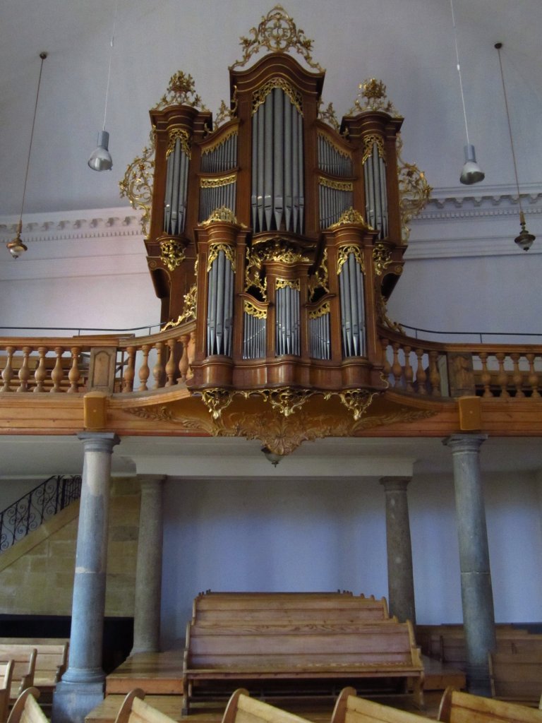
<instances>
[{"instance_id":1,"label":"pale ceiling above the cornice, behind the organ top and hanging lamps","mask_svg":"<svg viewBox=\"0 0 542 723\"><path fill-rule=\"evenodd\" d=\"M103 124L113 171L87 167ZM148 110L178 69L205 105L228 99L238 40L272 0L8 0L0 9L0 216L18 215L38 85L25 213L111 208L118 181L150 131ZM348 112L358 83L378 77L405 116L405 161L434 187L459 187L465 126L449 0L285 0L327 69L324 102ZM514 182L496 41L502 41L521 184L541 183L541 0L455 0L470 141L489 187ZM483 192L483 184L476 189ZM474 187L472 187L474 188ZM460 187L463 193L467 187ZM471 191L469 191L471 192Z\"/></svg>"}]
</instances>

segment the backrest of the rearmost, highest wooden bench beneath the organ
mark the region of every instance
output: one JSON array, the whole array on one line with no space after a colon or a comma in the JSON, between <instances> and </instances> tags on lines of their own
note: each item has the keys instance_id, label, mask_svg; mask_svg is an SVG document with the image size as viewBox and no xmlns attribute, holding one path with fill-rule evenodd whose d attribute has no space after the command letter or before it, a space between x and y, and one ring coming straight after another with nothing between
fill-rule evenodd
<instances>
[{"instance_id":1,"label":"backrest of the rearmost, highest wooden bench beneath the organ","mask_svg":"<svg viewBox=\"0 0 542 723\"><path fill-rule=\"evenodd\" d=\"M335 593L202 593L194 599L197 623L358 623L390 617L385 598Z\"/></svg>"}]
</instances>

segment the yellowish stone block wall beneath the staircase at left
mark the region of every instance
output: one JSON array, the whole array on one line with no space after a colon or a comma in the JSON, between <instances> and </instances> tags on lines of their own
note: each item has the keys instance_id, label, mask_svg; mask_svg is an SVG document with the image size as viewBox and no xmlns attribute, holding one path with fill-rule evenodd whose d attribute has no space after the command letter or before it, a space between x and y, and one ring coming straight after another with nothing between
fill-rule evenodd
<instances>
[{"instance_id":1,"label":"yellowish stone block wall beneath the staircase at left","mask_svg":"<svg viewBox=\"0 0 542 723\"><path fill-rule=\"evenodd\" d=\"M133 617L139 482L111 481L106 617ZM0 614L71 615L79 502L0 554Z\"/></svg>"}]
</instances>

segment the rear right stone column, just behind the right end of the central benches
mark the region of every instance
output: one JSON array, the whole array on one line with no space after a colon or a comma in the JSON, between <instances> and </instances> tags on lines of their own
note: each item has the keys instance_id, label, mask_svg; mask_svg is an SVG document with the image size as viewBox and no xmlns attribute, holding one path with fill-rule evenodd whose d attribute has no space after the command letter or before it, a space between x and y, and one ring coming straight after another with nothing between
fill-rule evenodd
<instances>
[{"instance_id":1,"label":"rear right stone column, just behind the right end of the central benches","mask_svg":"<svg viewBox=\"0 0 542 723\"><path fill-rule=\"evenodd\" d=\"M416 625L407 486L410 477L382 477L386 494L387 586L390 615Z\"/></svg>"}]
</instances>

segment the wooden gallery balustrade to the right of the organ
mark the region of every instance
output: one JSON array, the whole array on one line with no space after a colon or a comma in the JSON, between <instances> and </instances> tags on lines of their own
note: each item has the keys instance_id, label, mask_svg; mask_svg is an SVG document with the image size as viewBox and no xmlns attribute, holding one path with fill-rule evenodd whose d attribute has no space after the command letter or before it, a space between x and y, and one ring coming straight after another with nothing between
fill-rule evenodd
<instances>
[{"instance_id":1,"label":"wooden gallery balustrade to the right of the organ","mask_svg":"<svg viewBox=\"0 0 542 723\"><path fill-rule=\"evenodd\" d=\"M540 398L542 346L424 342L381 328L390 388L432 397Z\"/></svg>"}]
</instances>

